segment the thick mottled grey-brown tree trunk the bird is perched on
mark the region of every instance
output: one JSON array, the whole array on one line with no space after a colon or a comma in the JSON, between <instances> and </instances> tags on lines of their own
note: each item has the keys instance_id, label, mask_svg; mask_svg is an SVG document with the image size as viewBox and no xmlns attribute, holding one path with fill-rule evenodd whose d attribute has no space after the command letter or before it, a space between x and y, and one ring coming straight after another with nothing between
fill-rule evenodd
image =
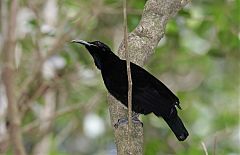
<instances>
[{"instance_id":1,"label":"thick mottled grey-brown tree trunk the bird is perched on","mask_svg":"<svg viewBox=\"0 0 240 155\"><path fill-rule=\"evenodd\" d=\"M154 52L158 42L164 36L164 31L168 20L175 16L182 9L188 0L148 0L144 6L142 19L133 32L128 35L128 50L130 60L140 66ZM124 45L121 43L117 54L125 58ZM118 119L127 117L127 110L111 95L108 95L109 111L112 125ZM128 140L128 126L114 128L115 143L118 155L143 154L143 128L141 125L132 125L131 145Z\"/></svg>"}]
</instances>

